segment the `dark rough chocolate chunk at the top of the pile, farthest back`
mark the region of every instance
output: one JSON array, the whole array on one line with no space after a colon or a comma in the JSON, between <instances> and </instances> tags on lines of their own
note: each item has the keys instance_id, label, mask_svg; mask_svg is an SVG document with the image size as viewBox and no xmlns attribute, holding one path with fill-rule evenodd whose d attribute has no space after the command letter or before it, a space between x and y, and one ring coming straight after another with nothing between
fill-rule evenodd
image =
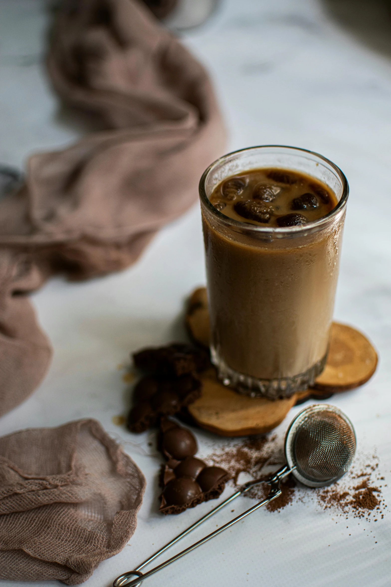
<instances>
[{"instance_id":1,"label":"dark rough chocolate chunk at the top of the pile, farthest back","mask_svg":"<svg viewBox=\"0 0 391 587\"><path fill-rule=\"evenodd\" d=\"M176 343L160 348L149 348L134 353L135 366L141 371L158 376L176 376L208 369L209 354L204 349Z\"/></svg>"}]
</instances>

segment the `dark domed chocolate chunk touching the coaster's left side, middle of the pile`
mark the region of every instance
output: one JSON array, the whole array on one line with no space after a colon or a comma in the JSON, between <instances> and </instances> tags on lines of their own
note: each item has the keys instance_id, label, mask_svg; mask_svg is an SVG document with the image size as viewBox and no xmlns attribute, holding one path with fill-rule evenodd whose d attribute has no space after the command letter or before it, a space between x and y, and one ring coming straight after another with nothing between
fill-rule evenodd
<instances>
[{"instance_id":1,"label":"dark domed chocolate chunk touching the coaster's left side, middle of the pile","mask_svg":"<svg viewBox=\"0 0 391 587\"><path fill-rule=\"evenodd\" d=\"M200 397L201 386L194 375L144 377L134 388L128 429L143 432L155 426L159 417L173 416Z\"/></svg>"}]
</instances>

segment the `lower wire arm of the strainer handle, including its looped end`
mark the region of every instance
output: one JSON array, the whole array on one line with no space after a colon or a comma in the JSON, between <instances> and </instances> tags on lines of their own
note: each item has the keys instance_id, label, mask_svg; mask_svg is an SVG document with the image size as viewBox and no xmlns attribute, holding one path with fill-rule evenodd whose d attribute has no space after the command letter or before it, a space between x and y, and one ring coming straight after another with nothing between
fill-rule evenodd
<instances>
[{"instance_id":1,"label":"lower wire arm of the strainer handle, including its looped end","mask_svg":"<svg viewBox=\"0 0 391 587\"><path fill-rule=\"evenodd\" d=\"M200 539L198 542L195 542L191 546L188 546L188 548L185 548L185 550L178 552L178 554L176 554L175 556L172 556L167 561L164 561L160 565L155 566L155 568L151 569L151 571L148 571L147 573L144 573L144 574L141 573L140 571L137 571L138 577L136 579L133 579L133 581L131 581L130 583L128 583L127 578L130 578L131 575L135 574L135 572L129 571L128 573L124 573L124 575L121 575L120 577L117 577L117 579L115 579L115 581L113 583L113 587L121 587L121 586L125 586L125 585L126 585L126 587L138 587L139 585L141 585L141 582L144 581L144 579L147 579L151 575L154 575L158 571L161 571L161 569L164 569L166 566L171 565L172 562L177 561L179 558L181 558L185 554L188 554L188 552L191 552L195 548L198 548L198 546L205 544L205 542L208 542L208 540L210 540L211 538L215 538L215 536L217 536L217 534L221 534L221 532L225 531L227 528L230 528L231 526L236 524L236 522L239 522L241 519L245 518L247 515L252 514L254 511L258 510L258 508L260 508L262 505L267 505L268 503L270 503L270 501L276 499L276 497L278 497L279 495L281 495L281 490L280 490L280 480L278 478L277 481L275 481L274 483L271 483L270 491L269 491L267 498L263 501L260 501L259 504L253 505L252 508L250 508L249 510L246 510L245 512L243 512L243 514L240 514L236 518L233 518L230 522L227 522L227 524L223 525L221 528L217 528L217 530L215 530L211 534L208 534L208 536L205 536L204 538ZM141 581L140 581L140 579L141 579Z\"/></svg>"}]
</instances>

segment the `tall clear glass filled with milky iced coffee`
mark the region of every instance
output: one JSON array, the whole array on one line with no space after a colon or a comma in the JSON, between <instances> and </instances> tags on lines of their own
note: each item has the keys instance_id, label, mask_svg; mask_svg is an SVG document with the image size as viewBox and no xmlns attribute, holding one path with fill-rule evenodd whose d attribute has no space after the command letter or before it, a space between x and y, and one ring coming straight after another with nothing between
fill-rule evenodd
<instances>
[{"instance_id":1,"label":"tall clear glass filled with milky iced coffee","mask_svg":"<svg viewBox=\"0 0 391 587\"><path fill-rule=\"evenodd\" d=\"M327 360L348 182L317 153L261 146L199 184L212 362L223 383L272 399Z\"/></svg>"}]
</instances>

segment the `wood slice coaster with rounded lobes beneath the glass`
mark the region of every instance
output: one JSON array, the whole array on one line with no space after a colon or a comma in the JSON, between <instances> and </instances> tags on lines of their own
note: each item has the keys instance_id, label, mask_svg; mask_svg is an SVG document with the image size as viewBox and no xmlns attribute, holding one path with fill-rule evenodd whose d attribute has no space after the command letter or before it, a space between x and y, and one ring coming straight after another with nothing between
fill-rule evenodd
<instances>
[{"instance_id":1,"label":"wood slice coaster with rounded lobes beneath the glass","mask_svg":"<svg viewBox=\"0 0 391 587\"><path fill-rule=\"evenodd\" d=\"M209 346L205 288L198 288L191 295L186 326L195 343ZM311 398L324 400L334 393L362 385L373 375L377 363L375 349L361 332L333 322L328 360L314 387L287 399L251 398L223 386L211 369L202 374L202 396L188 407L188 411L199 426L221 436L262 434L278 426L296 403Z\"/></svg>"}]
</instances>

